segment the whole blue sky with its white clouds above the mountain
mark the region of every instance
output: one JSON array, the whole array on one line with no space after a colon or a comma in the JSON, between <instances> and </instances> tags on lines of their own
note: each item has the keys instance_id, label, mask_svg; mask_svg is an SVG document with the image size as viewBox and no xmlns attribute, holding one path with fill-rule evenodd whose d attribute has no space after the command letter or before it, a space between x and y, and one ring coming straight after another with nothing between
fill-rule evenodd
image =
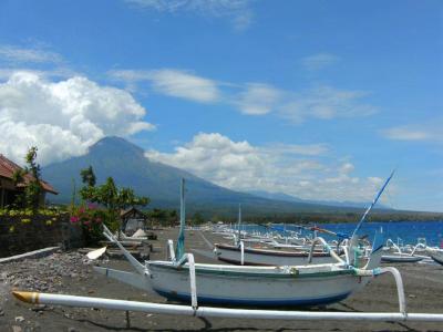
<instances>
[{"instance_id":1,"label":"whole blue sky with its white clouds above the mountain","mask_svg":"<svg viewBox=\"0 0 443 332\"><path fill-rule=\"evenodd\" d=\"M106 135L237 190L443 211L441 1L2 1L0 152Z\"/></svg>"}]
</instances>

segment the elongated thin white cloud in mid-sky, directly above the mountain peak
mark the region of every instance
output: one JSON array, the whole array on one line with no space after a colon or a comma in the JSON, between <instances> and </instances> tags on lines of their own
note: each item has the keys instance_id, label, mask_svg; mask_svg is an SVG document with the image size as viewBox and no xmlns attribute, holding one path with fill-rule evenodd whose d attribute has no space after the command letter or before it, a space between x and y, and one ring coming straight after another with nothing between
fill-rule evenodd
<instances>
[{"instance_id":1,"label":"elongated thin white cloud in mid-sky, directly above the mountain peak","mask_svg":"<svg viewBox=\"0 0 443 332\"><path fill-rule=\"evenodd\" d=\"M130 87L136 82L150 81L157 93L199 103L217 102L220 95L216 82L179 70L115 70L109 72L109 76L125 82Z\"/></svg>"}]
</instances>

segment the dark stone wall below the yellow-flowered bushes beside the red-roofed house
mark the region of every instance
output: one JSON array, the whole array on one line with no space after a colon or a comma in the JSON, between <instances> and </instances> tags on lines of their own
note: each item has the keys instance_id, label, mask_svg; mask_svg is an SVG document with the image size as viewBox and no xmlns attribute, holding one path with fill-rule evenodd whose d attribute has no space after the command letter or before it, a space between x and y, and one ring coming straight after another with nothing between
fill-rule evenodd
<instances>
[{"instance_id":1,"label":"dark stone wall below the yellow-flowered bushes beside the red-roofed house","mask_svg":"<svg viewBox=\"0 0 443 332\"><path fill-rule=\"evenodd\" d=\"M0 257L53 246L79 248L83 243L82 229L70 222L69 214L0 215Z\"/></svg>"}]
</instances>

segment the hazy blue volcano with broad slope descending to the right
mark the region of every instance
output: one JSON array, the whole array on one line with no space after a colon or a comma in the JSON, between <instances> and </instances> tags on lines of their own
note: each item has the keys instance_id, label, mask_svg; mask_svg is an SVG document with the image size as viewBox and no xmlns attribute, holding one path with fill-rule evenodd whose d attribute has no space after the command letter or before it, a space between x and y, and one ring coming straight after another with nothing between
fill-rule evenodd
<instances>
[{"instance_id":1,"label":"hazy blue volcano with broad slope descending to the right","mask_svg":"<svg viewBox=\"0 0 443 332\"><path fill-rule=\"evenodd\" d=\"M97 184L112 176L117 186L133 188L137 195L150 197L152 207L177 207L179 183L182 178L186 178L189 190L187 203L195 209L206 209L212 214L236 215L240 203L257 215L331 209L305 203L270 200L219 187L186 170L151 162L145 157L143 148L116 136L100 139L85 155L48 165L42 169L44 178L60 193L54 200L69 203L72 199L73 179L81 184L80 172L89 166L93 167Z\"/></svg>"}]
</instances>

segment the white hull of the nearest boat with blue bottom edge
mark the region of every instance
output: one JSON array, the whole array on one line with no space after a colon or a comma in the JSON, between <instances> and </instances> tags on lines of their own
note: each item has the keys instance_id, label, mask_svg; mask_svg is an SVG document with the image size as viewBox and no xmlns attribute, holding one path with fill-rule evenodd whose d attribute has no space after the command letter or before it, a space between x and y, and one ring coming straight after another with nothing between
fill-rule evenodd
<instances>
[{"instance_id":1,"label":"white hull of the nearest boat with blue bottom edge","mask_svg":"<svg viewBox=\"0 0 443 332\"><path fill-rule=\"evenodd\" d=\"M226 270L227 266L223 270L200 266L195 267L198 303L265 307L328 304L346 299L371 278L356 277L350 270L297 273L292 268L293 273L275 273L272 270L264 273L257 272L259 268L248 272L247 267L236 271ZM168 299L189 301L187 266L176 268L171 263L151 261L148 270L154 291Z\"/></svg>"}]
</instances>

